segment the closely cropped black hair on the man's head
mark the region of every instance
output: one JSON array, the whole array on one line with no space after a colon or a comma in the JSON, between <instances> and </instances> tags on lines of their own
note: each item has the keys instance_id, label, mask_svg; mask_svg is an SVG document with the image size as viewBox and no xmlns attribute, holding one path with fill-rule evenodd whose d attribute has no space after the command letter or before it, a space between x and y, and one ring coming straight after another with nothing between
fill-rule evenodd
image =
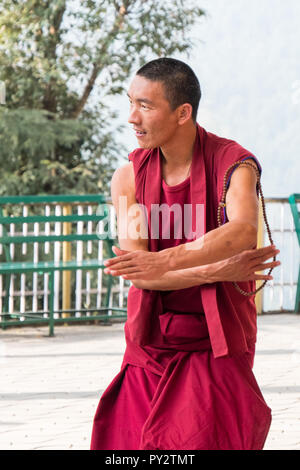
<instances>
[{"instance_id":1,"label":"closely cropped black hair on the man's head","mask_svg":"<svg viewBox=\"0 0 300 470\"><path fill-rule=\"evenodd\" d=\"M196 122L201 88L198 78L189 65L181 60L161 57L143 65L136 75L162 82L172 111L181 104L189 103L193 108L193 121Z\"/></svg>"}]
</instances>

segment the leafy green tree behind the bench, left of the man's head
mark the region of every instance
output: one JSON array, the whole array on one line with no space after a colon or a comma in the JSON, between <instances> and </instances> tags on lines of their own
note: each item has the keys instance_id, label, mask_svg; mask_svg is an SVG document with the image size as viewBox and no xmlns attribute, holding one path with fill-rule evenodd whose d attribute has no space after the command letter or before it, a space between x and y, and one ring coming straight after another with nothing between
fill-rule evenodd
<instances>
[{"instance_id":1,"label":"leafy green tree behind the bench, left of the man's head","mask_svg":"<svg viewBox=\"0 0 300 470\"><path fill-rule=\"evenodd\" d=\"M105 192L109 98L149 56L188 51L197 0L2 0L0 194Z\"/></svg>"}]
</instances>

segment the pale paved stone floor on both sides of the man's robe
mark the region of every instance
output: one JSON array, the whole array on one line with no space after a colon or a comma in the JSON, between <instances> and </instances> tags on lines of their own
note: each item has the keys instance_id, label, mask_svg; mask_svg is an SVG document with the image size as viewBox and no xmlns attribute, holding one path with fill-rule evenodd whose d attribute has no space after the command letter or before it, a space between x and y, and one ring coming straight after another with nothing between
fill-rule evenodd
<instances>
[{"instance_id":1,"label":"pale paved stone floor on both sides of the man's robe","mask_svg":"<svg viewBox=\"0 0 300 470\"><path fill-rule=\"evenodd\" d=\"M300 449L300 316L258 319L254 372L273 421L265 449ZM124 324L0 331L0 449L89 449L99 398L118 373Z\"/></svg>"}]
</instances>

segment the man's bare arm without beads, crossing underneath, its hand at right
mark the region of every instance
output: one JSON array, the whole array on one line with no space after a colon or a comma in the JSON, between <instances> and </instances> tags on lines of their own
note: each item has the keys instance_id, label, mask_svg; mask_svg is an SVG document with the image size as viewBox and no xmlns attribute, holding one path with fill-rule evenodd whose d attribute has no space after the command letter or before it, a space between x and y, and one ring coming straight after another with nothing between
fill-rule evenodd
<instances>
[{"instance_id":1,"label":"man's bare arm without beads, crossing underneath, its hand at right","mask_svg":"<svg viewBox=\"0 0 300 470\"><path fill-rule=\"evenodd\" d=\"M112 178L111 194L113 204L117 213L119 244L121 248L118 249L117 247L115 247L115 254L118 256L122 256L126 253L130 253L131 251L148 251L147 238L133 239L130 234L130 230L127 230L127 232L125 230L126 217L127 228L129 228L130 223L132 223L136 217L139 217L140 224L145 224L144 226L139 227L141 234L147 233L146 221L143 221L141 214L136 215L137 211L131 211L131 213L129 211L129 213L125 213L124 210L120 210L120 196L126 197L128 209L137 204L137 201L135 199L135 182L132 163L127 164L124 167L121 167L116 170ZM227 197L226 202L229 208L229 212L231 209L231 216L234 217L234 208L230 207L230 198ZM253 207L255 206L253 205ZM254 209L252 217L254 223L256 224L255 213L256 212ZM184 247L184 245L181 246ZM173 248L171 248L171 250L173 250ZM278 252L278 250L275 250L275 247L266 247L260 250L244 251L241 254L233 256L230 259L226 259L224 261L219 261L208 265L164 272L161 276L158 276L156 279L141 279L141 277L138 275L130 274L124 275L123 277L125 279L131 279L135 287L150 290L185 289L188 287L217 281L272 279L272 276L255 273L267 268L275 267L278 263L263 263L269 258L274 257L275 254ZM114 271L113 266L111 268L107 268L105 272L110 272L112 275L122 275L122 273Z\"/></svg>"}]
</instances>

